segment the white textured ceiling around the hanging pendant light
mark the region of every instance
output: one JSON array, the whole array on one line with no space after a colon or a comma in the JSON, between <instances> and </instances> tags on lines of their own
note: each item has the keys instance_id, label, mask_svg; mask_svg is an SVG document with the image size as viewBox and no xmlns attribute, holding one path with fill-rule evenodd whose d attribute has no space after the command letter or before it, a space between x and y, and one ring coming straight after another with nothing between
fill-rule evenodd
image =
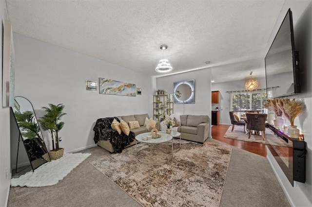
<instances>
[{"instance_id":1,"label":"white textured ceiling around the hanging pendant light","mask_svg":"<svg viewBox=\"0 0 312 207\"><path fill-rule=\"evenodd\" d=\"M265 76L285 0L6 1L15 33L156 77L167 44L168 74L209 67L218 83Z\"/></svg>"}]
</instances>

